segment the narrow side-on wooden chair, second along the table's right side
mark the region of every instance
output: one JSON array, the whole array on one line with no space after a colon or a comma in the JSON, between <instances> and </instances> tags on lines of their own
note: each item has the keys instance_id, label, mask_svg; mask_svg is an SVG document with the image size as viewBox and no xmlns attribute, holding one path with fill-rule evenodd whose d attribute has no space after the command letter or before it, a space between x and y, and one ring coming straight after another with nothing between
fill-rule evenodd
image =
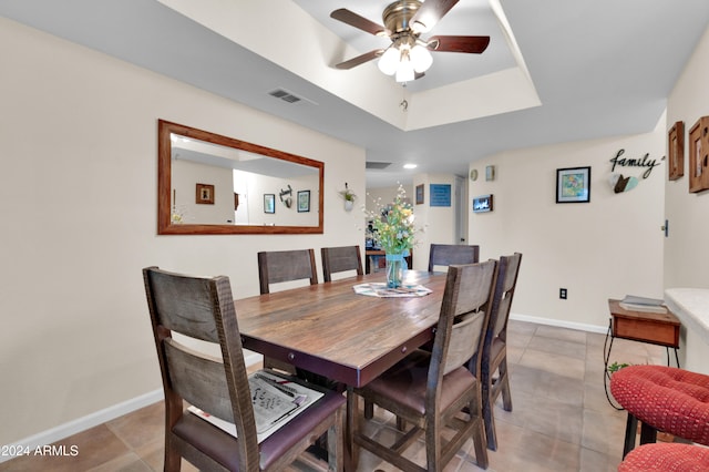
<instances>
[{"instance_id":1,"label":"narrow side-on wooden chair, second along the table's right side","mask_svg":"<svg viewBox=\"0 0 709 472\"><path fill-rule=\"evenodd\" d=\"M520 253L500 257L490 322L487 324L483 342L481 361L483 418L485 419L487 448L492 451L497 450L494 408L500 394L502 394L502 404L505 411L512 411L512 394L510 392L510 374L507 370L507 320L517 285L521 263L522 254Z\"/></svg>"}]
</instances>

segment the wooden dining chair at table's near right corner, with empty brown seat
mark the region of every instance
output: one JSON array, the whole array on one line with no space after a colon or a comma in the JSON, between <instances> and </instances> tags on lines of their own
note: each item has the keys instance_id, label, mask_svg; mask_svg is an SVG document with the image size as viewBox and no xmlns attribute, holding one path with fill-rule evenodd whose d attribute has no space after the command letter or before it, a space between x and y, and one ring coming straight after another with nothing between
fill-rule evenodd
<instances>
[{"instance_id":1,"label":"wooden dining chair at table's near right corner, with empty brown seat","mask_svg":"<svg viewBox=\"0 0 709 472\"><path fill-rule=\"evenodd\" d=\"M354 418L350 434L352 456L364 448L403 471L442 471L472 438L477 466L487 468L482 415L480 359L490 318L495 260L450 266L433 350L418 349L353 394L371 401L411 425L393 444L366 434ZM472 359L477 366L469 367ZM467 413L462 413L467 407ZM454 434L448 431L453 429ZM425 432L425 466L403 453ZM386 438L382 435L381 438Z\"/></svg>"}]
</instances>

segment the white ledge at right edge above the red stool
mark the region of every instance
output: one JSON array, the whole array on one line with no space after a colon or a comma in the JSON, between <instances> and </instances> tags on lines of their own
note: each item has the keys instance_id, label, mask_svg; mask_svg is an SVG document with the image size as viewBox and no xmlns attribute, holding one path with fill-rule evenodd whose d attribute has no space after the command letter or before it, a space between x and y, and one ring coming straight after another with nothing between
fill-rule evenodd
<instances>
[{"instance_id":1,"label":"white ledge at right edge above the red stool","mask_svg":"<svg viewBox=\"0 0 709 472\"><path fill-rule=\"evenodd\" d=\"M682 368L709 374L709 289L668 288L665 304L682 324L680 353Z\"/></svg>"}]
</instances>

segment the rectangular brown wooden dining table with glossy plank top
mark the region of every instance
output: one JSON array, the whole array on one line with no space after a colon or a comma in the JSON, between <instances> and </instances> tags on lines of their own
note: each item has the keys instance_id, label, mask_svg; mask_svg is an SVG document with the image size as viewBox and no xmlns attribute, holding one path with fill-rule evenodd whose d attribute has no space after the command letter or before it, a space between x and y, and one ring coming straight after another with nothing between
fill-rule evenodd
<instances>
[{"instance_id":1,"label":"rectangular brown wooden dining table with glossy plank top","mask_svg":"<svg viewBox=\"0 0 709 472\"><path fill-rule=\"evenodd\" d=\"M235 300L244 348L350 387L366 386L433 339L445 274L408 270L404 285L432 290L420 297L353 290L383 281L383 273L369 274Z\"/></svg>"}]
</instances>

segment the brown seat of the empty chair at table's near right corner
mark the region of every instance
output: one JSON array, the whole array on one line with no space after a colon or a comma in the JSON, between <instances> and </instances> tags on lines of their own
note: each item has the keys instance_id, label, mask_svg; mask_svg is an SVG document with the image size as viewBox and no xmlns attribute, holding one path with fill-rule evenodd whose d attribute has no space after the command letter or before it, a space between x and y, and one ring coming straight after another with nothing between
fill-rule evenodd
<instances>
[{"instance_id":1,"label":"brown seat of the empty chair at table's near right corner","mask_svg":"<svg viewBox=\"0 0 709 472\"><path fill-rule=\"evenodd\" d=\"M401 407L420 415L425 413L425 388L429 376L431 353L417 350L401 360L384 374L374 379L361 391L379 399L395 400ZM441 409L446 410L453 401L463 396L466 390L474 388L475 377L461 367L443 377L441 389ZM402 396L401 392L405 392Z\"/></svg>"}]
</instances>

